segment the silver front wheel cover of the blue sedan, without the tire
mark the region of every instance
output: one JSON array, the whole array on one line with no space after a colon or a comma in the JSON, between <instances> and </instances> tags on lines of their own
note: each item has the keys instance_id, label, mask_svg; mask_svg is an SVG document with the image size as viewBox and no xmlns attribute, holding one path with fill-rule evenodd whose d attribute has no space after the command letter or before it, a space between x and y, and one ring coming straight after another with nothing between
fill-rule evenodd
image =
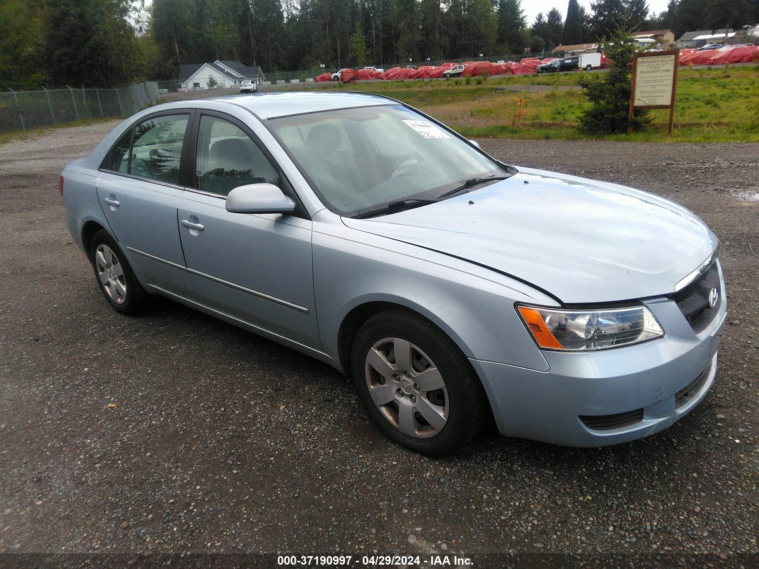
<instances>
[{"instance_id":1,"label":"silver front wheel cover of the blue sedan, without the tire","mask_svg":"<svg viewBox=\"0 0 759 569\"><path fill-rule=\"evenodd\" d=\"M424 439L446 426L446 382L427 354L408 340L376 342L367 353L365 374L373 403L405 435Z\"/></svg>"}]
</instances>

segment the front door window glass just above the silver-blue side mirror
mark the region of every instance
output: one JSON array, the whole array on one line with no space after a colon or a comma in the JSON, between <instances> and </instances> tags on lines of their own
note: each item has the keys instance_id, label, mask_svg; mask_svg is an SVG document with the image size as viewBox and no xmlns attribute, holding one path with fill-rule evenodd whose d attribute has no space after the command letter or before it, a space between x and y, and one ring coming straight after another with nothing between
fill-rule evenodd
<instances>
[{"instance_id":1,"label":"front door window glass just above the silver-blue side mirror","mask_svg":"<svg viewBox=\"0 0 759 569\"><path fill-rule=\"evenodd\" d=\"M247 184L279 186L279 174L247 134L231 122L203 116L197 132L196 187L226 196Z\"/></svg>"}]
</instances>

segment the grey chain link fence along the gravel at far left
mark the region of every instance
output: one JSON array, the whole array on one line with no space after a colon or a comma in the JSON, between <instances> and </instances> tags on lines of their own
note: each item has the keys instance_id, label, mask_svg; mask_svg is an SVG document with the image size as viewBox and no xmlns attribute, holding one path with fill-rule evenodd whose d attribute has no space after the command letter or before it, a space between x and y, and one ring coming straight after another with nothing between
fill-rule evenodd
<instances>
[{"instance_id":1,"label":"grey chain link fence along the gravel at far left","mask_svg":"<svg viewBox=\"0 0 759 569\"><path fill-rule=\"evenodd\" d=\"M54 89L0 93L0 132L86 118L128 117L159 102L154 81L121 89Z\"/></svg>"}]
</instances>

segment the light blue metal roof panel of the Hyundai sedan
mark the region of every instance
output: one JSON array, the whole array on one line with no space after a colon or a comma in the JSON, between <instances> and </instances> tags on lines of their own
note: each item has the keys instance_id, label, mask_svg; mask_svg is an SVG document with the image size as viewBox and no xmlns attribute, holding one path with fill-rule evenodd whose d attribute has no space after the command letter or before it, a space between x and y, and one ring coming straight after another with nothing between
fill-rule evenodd
<instances>
[{"instance_id":1,"label":"light blue metal roof panel of the Hyundai sedan","mask_svg":"<svg viewBox=\"0 0 759 569\"><path fill-rule=\"evenodd\" d=\"M338 108L397 104L392 99L370 93L309 93L305 91L258 93L257 95L225 96L205 100L234 103L254 112L263 120L289 115L305 115L311 112L332 111Z\"/></svg>"}]
</instances>

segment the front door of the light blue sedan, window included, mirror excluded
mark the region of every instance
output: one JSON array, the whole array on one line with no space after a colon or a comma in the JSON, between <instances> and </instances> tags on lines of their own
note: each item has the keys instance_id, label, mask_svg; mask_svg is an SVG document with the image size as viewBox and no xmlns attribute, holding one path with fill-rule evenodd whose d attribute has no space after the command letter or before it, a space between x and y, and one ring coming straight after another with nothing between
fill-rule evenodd
<instances>
[{"instance_id":1,"label":"front door of the light blue sedan, window included, mirror excluded","mask_svg":"<svg viewBox=\"0 0 759 569\"><path fill-rule=\"evenodd\" d=\"M244 124L198 112L194 183L179 200L187 271L200 302L260 329L320 349L307 215L225 209L235 187L268 182L298 203L263 144Z\"/></svg>"}]
</instances>

